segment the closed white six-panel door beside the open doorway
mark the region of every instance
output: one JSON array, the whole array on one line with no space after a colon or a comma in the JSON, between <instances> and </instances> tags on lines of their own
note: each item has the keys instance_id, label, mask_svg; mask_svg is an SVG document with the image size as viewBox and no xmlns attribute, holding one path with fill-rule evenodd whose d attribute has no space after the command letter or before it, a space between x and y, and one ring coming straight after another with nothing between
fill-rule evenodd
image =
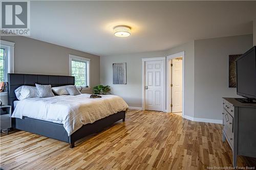
<instances>
[{"instance_id":1,"label":"closed white six-panel door beside the open doorway","mask_svg":"<svg viewBox=\"0 0 256 170\"><path fill-rule=\"evenodd\" d=\"M145 62L145 109L163 111L163 61Z\"/></svg>"}]
</instances>

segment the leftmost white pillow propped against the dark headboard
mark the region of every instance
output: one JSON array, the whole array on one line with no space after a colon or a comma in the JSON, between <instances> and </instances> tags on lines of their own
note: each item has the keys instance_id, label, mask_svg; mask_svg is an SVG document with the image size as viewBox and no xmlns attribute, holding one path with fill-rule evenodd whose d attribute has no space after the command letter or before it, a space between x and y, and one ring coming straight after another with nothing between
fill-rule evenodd
<instances>
[{"instance_id":1,"label":"leftmost white pillow propped against the dark headboard","mask_svg":"<svg viewBox=\"0 0 256 170\"><path fill-rule=\"evenodd\" d=\"M20 86L14 92L18 100L38 98L38 92L34 86Z\"/></svg>"}]
</instances>

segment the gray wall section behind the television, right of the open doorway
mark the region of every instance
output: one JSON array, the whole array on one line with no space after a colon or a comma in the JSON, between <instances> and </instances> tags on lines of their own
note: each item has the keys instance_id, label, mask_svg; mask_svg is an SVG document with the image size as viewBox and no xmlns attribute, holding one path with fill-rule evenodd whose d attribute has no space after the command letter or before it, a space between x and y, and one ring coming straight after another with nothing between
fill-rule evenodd
<instances>
[{"instance_id":1,"label":"gray wall section behind the television, right of the open doorway","mask_svg":"<svg viewBox=\"0 0 256 170\"><path fill-rule=\"evenodd\" d=\"M240 97L228 87L228 55L252 47L252 35L195 41L195 117L222 119L222 97Z\"/></svg>"}]
</instances>

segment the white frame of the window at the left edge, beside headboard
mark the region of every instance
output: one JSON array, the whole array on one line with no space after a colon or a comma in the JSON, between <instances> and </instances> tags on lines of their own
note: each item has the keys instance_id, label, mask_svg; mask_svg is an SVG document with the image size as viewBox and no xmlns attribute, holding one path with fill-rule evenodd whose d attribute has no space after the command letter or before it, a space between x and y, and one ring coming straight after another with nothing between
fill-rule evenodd
<instances>
[{"instance_id":1,"label":"white frame of the window at the left edge, beside headboard","mask_svg":"<svg viewBox=\"0 0 256 170\"><path fill-rule=\"evenodd\" d=\"M5 59L5 72L4 72L4 81L8 81L8 73L14 73L14 42L0 40L0 48L3 48L5 50L4 56L6 56Z\"/></svg>"}]
</instances>

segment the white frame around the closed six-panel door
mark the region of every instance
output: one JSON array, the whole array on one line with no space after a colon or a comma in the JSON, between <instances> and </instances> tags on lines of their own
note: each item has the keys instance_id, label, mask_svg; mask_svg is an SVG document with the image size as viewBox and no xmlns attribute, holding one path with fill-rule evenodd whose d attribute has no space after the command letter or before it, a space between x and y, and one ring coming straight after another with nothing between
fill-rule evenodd
<instances>
[{"instance_id":1,"label":"white frame around the closed six-panel door","mask_svg":"<svg viewBox=\"0 0 256 170\"><path fill-rule=\"evenodd\" d=\"M146 61L163 61L163 107L162 111L165 111L165 57L151 57L151 58L142 58L142 110L145 110L145 62Z\"/></svg>"}]
</instances>

